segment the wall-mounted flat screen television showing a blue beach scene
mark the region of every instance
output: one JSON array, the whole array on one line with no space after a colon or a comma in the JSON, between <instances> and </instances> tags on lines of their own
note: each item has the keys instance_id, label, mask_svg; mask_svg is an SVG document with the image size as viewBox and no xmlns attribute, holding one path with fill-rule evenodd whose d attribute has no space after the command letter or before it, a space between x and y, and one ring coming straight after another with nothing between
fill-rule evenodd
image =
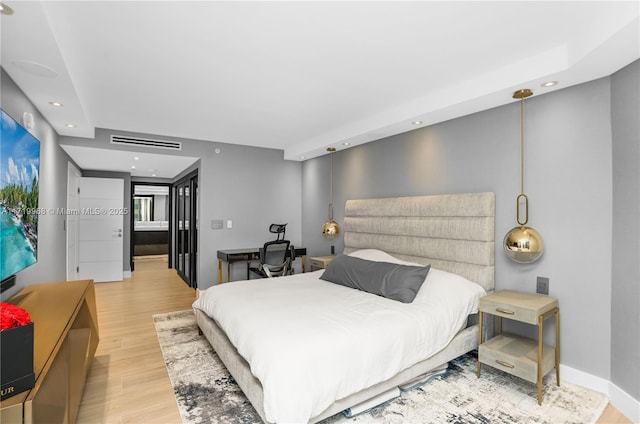
<instances>
[{"instance_id":1,"label":"wall-mounted flat screen television showing a blue beach scene","mask_svg":"<svg viewBox=\"0 0 640 424\"><path fill-rule=\"evenodd\" d=\"M0 134L1 291L38 261L40 142L5 111Z\"/></svg>"}]
</instances>

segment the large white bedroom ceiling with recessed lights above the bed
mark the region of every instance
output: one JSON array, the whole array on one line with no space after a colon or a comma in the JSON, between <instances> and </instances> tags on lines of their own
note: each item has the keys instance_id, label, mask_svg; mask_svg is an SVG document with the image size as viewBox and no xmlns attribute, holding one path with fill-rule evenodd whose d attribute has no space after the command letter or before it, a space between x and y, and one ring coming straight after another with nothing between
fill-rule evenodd
<instances>
[{"instance_id":1,"label":"large white bedroom ceiling with recessed lights above the bed","mask_svg":"<svg viewBox=\"0 0 640 424\"><path fill-rule=\"evenodd\" d=\"M640 57L637 1L4 3L2 67L59 134L118 129L290 160Z\"/></svg>"}]
</instances>

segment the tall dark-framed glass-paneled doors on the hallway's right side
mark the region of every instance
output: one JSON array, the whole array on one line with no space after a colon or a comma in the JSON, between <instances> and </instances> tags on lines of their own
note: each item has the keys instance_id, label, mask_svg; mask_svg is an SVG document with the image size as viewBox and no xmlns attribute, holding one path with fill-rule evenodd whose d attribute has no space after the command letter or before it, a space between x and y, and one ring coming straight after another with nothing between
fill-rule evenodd
<instances>
[{"instance_id":1,"label":"tall dark-framed glass-paneled doors on the hallway's right side","mask_svg":"<svg viewBox=\"0 0 640 424\"><path fill-rule=\"evenodd\" d=\"M173 184L173 258L178 275L198 287L198 172Z\"/></svg>"}]
</instances>

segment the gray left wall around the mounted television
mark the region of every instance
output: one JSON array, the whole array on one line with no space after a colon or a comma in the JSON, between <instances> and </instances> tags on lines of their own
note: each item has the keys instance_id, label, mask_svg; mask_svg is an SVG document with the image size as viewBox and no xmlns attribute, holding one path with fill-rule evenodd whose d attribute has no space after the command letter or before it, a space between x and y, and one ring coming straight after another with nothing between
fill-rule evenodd
<instances>
[{"instance_id":1,"label":"gray left wall around the mounted television","mask_svg":"<svg viewBox=\"0 0 640 424\"><path fill-rule=\"evenodd\" d=\"M33 114L31 133L40 140L39 207L67 207L67 154L58 145L58 134L18 88L4 69L1 70L0 104L2 110L22 123L24 112ZM40 215L38 219L38 262L17 274L16 285L2 294L7 299L23 287L34 283L66 279L66 233L64 215Z\"/></svg>"}]
</instances>

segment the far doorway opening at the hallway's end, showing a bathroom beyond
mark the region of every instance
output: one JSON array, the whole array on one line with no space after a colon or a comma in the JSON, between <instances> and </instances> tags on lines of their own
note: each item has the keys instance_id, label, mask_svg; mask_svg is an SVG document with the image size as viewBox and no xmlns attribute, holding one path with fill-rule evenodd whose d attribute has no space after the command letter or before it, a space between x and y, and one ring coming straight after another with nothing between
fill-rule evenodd
<instances>
[{"instance_id":1,"label":"far doorway opening at the hallway's end, showing a bathroom beyond","mask_svg":"<svg viewBox=\"0 0 640 424\"><path fill-rule=\"evenodd\" d=\"M148 260L162 260L170 267L170 189L167 183L131 183L132 271L136 263Z\"/></svg>"}]
</instances>

